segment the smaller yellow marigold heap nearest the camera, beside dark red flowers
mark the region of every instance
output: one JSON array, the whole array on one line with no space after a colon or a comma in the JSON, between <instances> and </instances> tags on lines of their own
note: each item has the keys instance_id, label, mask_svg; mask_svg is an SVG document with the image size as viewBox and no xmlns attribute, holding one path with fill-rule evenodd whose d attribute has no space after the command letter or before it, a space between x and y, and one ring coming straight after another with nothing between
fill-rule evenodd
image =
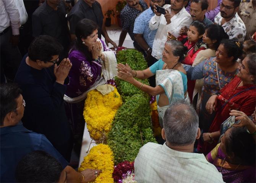
<instances>
[{"instance_id":1,"label":"smaller yellow marigold heap nearest the camera, beside dark red flowers","mask_svg":"<svg viewBox=\"0 0 256 183\"><path fill-rule=\"evenodd\" d=\"M84 157L84 161L78 170L81 172L85 169L98 169L102 171L93 183L113 183L114 161L113 152L109 146L98 144L92 147L89 154Z\"/></svg>"}]
</instances>

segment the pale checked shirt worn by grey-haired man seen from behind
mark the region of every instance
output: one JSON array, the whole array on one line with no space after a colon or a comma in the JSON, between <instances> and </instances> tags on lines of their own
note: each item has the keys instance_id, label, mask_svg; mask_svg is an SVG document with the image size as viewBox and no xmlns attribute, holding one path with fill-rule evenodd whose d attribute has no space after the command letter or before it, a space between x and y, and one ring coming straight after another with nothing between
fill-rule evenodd
<instances>
[{"instance_id":1,"label":"pale checked shirt worn by grey-haired man seen from behind","mask_svg":"<svg viewBox=\"0 0 256 183\"><path fill-rule=\"evenodd\" d=\"M203 154L175 151L166 143L147 143L134 161L138 183L223 183L222 174Z\"/></svg>"}]
</instances>

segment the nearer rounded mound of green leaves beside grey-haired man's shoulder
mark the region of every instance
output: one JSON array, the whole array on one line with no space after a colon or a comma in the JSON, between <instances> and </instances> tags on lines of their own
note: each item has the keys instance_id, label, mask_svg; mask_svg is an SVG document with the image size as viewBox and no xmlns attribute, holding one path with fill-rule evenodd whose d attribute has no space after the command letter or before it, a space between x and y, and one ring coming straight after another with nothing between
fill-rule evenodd
<instances>
[{"instance_id":1,"label":"nearer rounded mound of green leaves beside grey-haired man's shoulder","mask_svg":"<svg viewBox=\"0 0 256 183\"><path fill-rule=\"evenodd\" d=\"M134 161L144 144L156 142L150 112L149 98L141 94L131 96L118 109L107 138L115 164Z\"/></svg>"}]
</instances>

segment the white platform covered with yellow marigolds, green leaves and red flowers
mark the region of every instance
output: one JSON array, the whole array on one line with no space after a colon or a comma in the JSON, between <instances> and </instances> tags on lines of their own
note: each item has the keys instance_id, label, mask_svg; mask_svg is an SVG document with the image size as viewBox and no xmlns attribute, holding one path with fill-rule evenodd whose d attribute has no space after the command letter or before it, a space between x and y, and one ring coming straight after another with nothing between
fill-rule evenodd
<instances>
[{"instance_id":1,"label":"white platform covered with yellow marigolds, green leaves and red flowers","mask_svg":"<svg viewBox=\"0 0 256 183\"><path fill-rule=\"evenodd\" d=\"M128 63L134 70L147 68L143 55L133 49L118 51L117 62ZM156 103L151 104L149 95L128 82L115 78L115 83L117 87L107 95L89 92L84 105L79 170L102 170L95 183L135 183L133 162L139 149L156 142L151 121Z\"/></svg>"}]
</instances>

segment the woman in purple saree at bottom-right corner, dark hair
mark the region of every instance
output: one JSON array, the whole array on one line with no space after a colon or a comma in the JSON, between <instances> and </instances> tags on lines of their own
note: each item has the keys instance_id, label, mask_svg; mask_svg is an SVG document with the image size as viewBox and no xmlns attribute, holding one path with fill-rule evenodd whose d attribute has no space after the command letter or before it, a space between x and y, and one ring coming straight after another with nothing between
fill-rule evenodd
<instances>
[{"instance_id":1,"label":"woman in purple saree at bottom-right corner, dark hair","mask_svg":"<svg viewBox=\"0 0 256 183\"><path fill-rule=\"evenodd\" d=\"M253 135L244 128L229 128L221 143L206 155L222 173L224 182L256 182Z\"/></svg>"}]
</instances>

